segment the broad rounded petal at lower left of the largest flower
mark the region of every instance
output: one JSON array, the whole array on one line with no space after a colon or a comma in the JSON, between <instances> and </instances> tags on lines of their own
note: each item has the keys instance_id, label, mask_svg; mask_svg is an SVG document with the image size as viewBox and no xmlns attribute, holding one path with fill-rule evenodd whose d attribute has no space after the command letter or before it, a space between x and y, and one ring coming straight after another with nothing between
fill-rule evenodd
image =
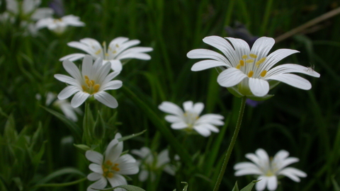
<instances>
[{"instance_id":1,"label":"broad rounded petal at lower left of the largest flower","mask_svg":"<svg viewBox=\"0 0 340 191\"><path fill-rule=\"evenodd\" d=\"M225 69L218 75L217 82L223 87L232 87L246 78L246 74L236 68Z\"/></svg>"}]
</instances>

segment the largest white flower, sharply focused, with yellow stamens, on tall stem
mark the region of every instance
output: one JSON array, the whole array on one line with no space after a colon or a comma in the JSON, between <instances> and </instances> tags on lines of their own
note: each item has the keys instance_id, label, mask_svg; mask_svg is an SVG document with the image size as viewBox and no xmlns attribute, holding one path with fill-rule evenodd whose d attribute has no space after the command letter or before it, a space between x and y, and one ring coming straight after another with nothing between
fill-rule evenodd
<instances>
[{"instance_id":1,"label":"largest white flower, sharply focused, with yellow stamens, on tall stem","mask_svg":"<svg viewBox=\"0 0 340 191\"><path fill-rule=\"evenodd\" d=\"M275 40L271 37L260 37L254 42L251 50L249 45L241 39L232 37L205 37L203 42L216 47L224 55L212 50L197 49L188 52L191 59L205 59L197 62L191 68L192 71L200 71L220 66L225 69L217 77L220 86L232 88L235 96L263 97L273 88L268 81L280 81L295 88L309 90L312 85L306 79L292 72L319 77L313 69L298 64L283 64L272 67L281 59L297 50L280 49L268 54Z\"/></svg>"}]
</instances>

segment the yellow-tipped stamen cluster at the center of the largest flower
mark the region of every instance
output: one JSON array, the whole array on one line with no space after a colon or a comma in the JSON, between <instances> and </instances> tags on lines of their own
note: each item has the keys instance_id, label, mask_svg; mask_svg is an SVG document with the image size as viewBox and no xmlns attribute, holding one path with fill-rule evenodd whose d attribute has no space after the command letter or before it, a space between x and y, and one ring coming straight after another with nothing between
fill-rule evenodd
<instances>
[{"instance_id":1,"label":"yellow-tipped stamen cluster at the center of the largest flower","mask_svg":"<svg viewBox=\"0 0 340 191\"><path fill-rule=\"evenodd\" d=\"M236 68L243 71L249 78L259 78L266 76L267 71L260 71L260 65L266 60L266 57L259 58L256 54L244 54L242 59L239 60L239 64L237 64Z\"/></svg>"}]
</instances>

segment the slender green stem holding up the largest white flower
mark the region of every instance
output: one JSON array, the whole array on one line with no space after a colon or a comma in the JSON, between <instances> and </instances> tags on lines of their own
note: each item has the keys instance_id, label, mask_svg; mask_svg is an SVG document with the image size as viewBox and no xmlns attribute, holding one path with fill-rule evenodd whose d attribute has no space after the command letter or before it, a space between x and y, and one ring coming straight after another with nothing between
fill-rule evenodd
<instances>
[{"instance_id":1,"label":"slender green stem holding up the largest white flower","mask_svg":"<svg viewBox=\"0 0 340 191\"><path fill-rule=\"evenodd\" d=\"M225 154L225 160L223 161L220 174L218 175L218 178L217 178L217 181L216 181L216 184L215 184L215 187L214 187L214 191L217 191L218 188L220 187L220 183L222 181L223 175L225 174L225 168L227 168L227 164L228 164L230 155L232 154L232 149L234 148L234 144L236 142L237 135L239 134L239 128L241 127L241 122L242 122L242 117L243 117L245 106L246 106L246 97L242 97L241 108L239 108L239 118L237 119L237 124L236 124L235 130L234 130L234 134L232 135L232 141L229 144L227 154Z\"/></svg>"}]
</instances>

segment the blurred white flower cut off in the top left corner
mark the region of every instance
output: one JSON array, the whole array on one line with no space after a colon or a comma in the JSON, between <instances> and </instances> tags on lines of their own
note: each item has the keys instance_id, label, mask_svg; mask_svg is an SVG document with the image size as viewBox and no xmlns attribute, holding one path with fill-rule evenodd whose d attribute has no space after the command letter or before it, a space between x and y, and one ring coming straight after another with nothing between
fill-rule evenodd
<instances>
[{"instance_id":1,"label":"blurred white flower cut off in the top left corner","mask_svg":"<svg viewBox=\"0 0 340 191\"><path fill-rule=\"evenodd\" d=\"M9 21L15 23L19 18L21 27L27 28L33 35L37 32L37 28L32 23L42 18L51 17L52 8L38 8L41 0L6 0L6 12L0 15L1 21Z\"/></svg>"}]
</instances>

